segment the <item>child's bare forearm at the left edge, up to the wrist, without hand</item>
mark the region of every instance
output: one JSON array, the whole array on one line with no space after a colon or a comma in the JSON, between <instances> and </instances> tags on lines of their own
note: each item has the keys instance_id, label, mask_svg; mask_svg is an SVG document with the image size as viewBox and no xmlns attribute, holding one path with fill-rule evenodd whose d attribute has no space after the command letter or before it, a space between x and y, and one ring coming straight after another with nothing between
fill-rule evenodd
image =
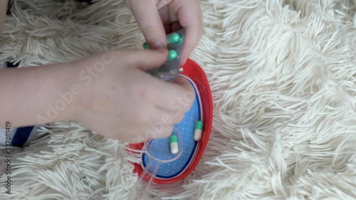
<instances>
[{"instance_id":1,"label":"child's bare forearm at the left edge, up to the wrist, without hand","mask_svg":"<svg viewBox=\"0 0 356 200\"><path fill-rule=\"evenodd\" d=\"M74 120L73 95L63 98L78 79L78 68L56 64L0 70L0 128ZM67 100L67 101L66 101Z\"/></svg>"}]
</instances>

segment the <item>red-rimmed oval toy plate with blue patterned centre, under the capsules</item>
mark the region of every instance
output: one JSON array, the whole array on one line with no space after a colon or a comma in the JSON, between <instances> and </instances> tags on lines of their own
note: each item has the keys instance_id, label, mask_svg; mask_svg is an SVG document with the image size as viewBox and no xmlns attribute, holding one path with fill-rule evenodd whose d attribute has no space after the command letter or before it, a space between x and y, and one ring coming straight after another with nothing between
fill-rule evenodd
<instances>
[{"instance_id":1,"label":"red-rimmed oval toy plate with blue patterned centre, under the capsules","mask_svg":"<svg viewBox=\"0 0 356 200\"><path fill-rule=\"evenodd\" d=\"M196 96L194 105L186 113L184 120L176 125L184 138L182 155L177 160L160 164L157 175L153 179L157 184L170 184L187 177L197 167L210 137L213 103L209 82L206 79L204 71L193 60L188 59L182 68L183 72L180 76L187 78L194 86ZM201 140L198 142L194 140L194 129L197 120L204 123ZM168 140L168 138L162 138L152 143L153 145L157 145L156 147L161 147L162 156L169 154ZM137 150L141 150L143 146L143 143L128 145L129 149ZM140 164L134 163L134 171L140 176L149 162L150 157L143 153L142 162ZM151 164L150 167L155 167L155 164Z\"/></svg>"}]
</instances>

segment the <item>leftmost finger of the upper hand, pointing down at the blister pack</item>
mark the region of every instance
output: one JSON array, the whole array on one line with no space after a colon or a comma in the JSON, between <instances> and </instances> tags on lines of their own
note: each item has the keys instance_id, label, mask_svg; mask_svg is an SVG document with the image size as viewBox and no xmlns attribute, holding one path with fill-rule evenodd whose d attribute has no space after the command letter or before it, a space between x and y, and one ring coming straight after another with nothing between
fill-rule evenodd
<instances>
[{"instance_id":1,"label":"leftmost finger of the upper hand, pointing down at the blister pack","mask_svg":"<svg viewBox=\"0 0 356 200\"><path fill-rule=\"evenodd\" d=\"M156 1L130 0L127 3L150 48L160 49L167 46L166 33L162 19L159 16Z\"/></svg>"}]
</instances>

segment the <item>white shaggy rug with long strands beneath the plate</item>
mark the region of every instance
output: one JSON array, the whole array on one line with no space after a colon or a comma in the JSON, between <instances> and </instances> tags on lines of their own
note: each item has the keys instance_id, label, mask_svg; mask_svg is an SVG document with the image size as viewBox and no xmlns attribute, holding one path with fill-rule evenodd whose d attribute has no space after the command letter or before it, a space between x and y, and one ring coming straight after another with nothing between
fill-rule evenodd
<instances>
[{"instance_id":1,"label":"white shaggy rug with long strands beneath the plate","mask_svg":"<svg viewBox=\"0 0 356 200\"><path fill-rule=\"evenodd\" d=\"M141 48L122 1L97 1L15 1L0 60L23 67ZM211 84L211 140L182 187L150 199L356 199L355 5L201 1L204 36L192 59ZM11 196L1 151L0 199L127 199L137 176L123 144L74 123L43 132L13 150Z\"/></svg>"}]
</instances>

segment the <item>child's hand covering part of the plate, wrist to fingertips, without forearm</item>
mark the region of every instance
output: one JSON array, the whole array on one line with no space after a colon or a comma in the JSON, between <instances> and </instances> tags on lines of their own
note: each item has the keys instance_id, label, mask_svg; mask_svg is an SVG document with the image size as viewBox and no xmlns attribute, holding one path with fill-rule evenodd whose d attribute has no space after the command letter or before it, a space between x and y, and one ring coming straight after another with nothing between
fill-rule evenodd
<instances>
[{"instance_id":1,"label":"child's hand covering part of the plate, wrist to fingertips, without forearm","mask_svg":"<svg viewBox=\"0 0 356 200\"><path fill-rule=\"evenodd\" d=\"M143 71L162 65L167 51L117 51L112 61L103 55L75 62L82 71L105 66L91 81L83 79L88 86L73 104L75 119L122 142L169 136L192 106L194 90L186 80L166 83Z\"/></svg>"}]
</instances>

